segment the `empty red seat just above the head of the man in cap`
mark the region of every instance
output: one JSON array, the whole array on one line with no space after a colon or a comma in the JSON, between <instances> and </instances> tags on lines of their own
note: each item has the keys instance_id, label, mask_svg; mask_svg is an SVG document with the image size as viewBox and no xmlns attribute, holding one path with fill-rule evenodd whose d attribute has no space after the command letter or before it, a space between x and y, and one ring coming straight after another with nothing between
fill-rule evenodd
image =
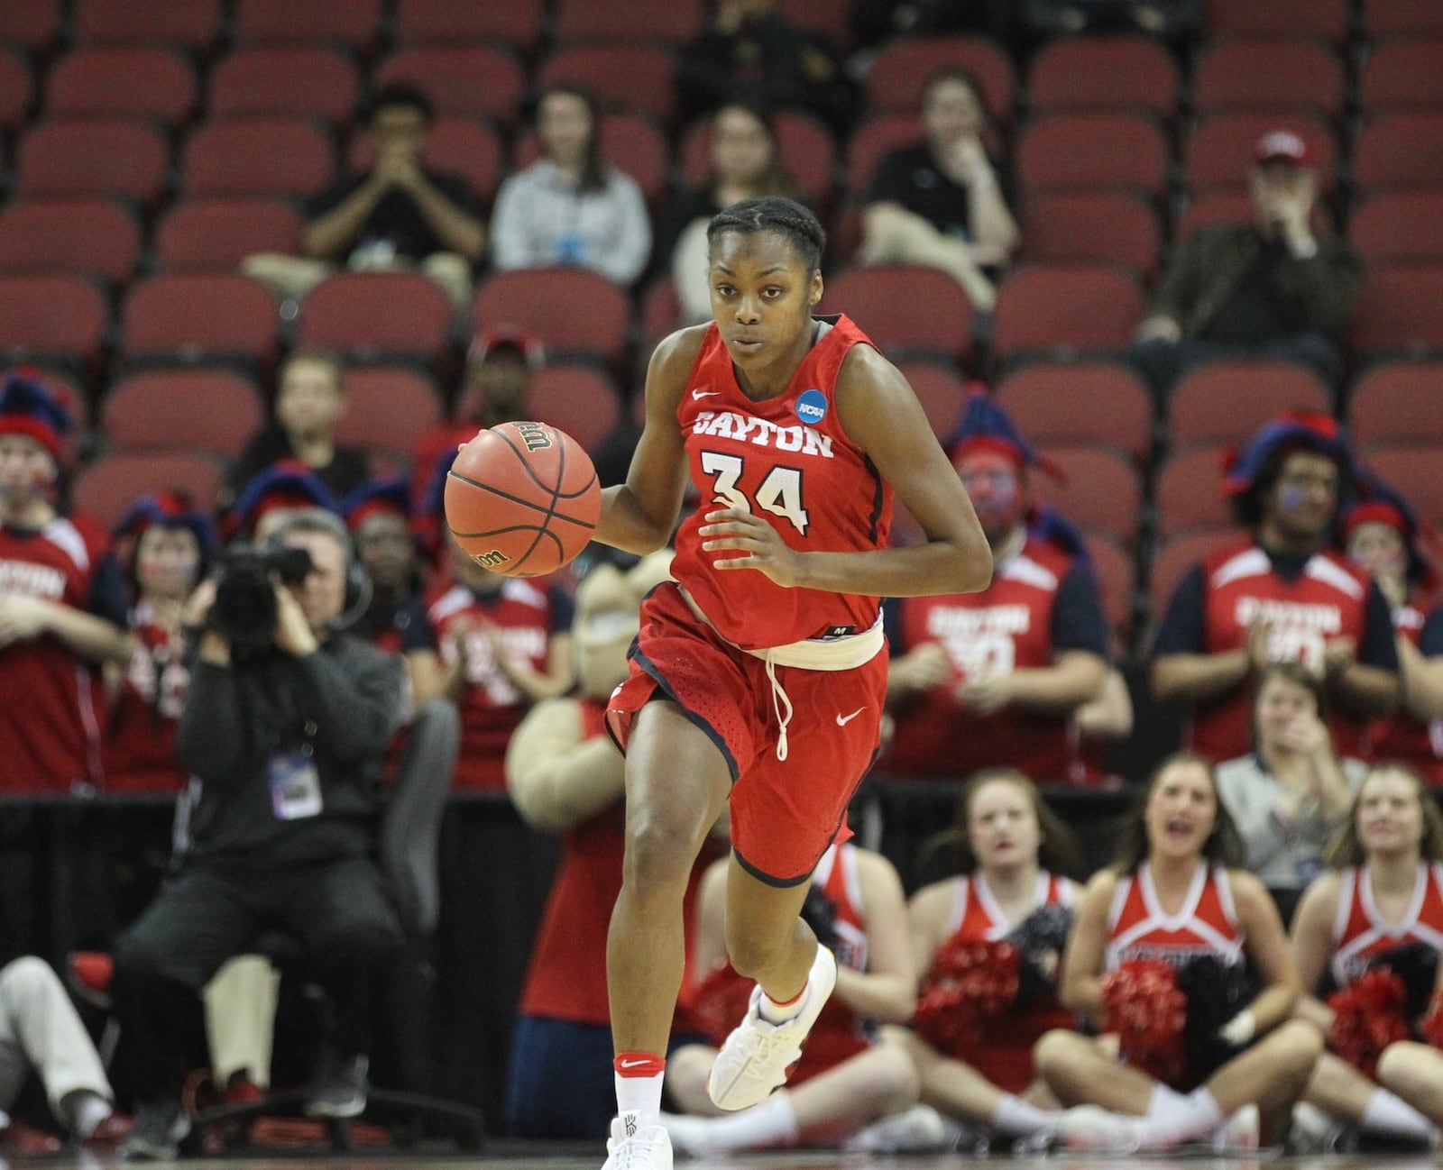
<instances>
[{"instance_id":1,"label":"empty red seat just above the head of the man in cap","mask_svg":"<svg viewBox=\"0 0 1443 1170\"><path fill-rule=\"evenodd\" d=\"M1202 114L1307 110L1338 120L1342 61L1316 40L1218 40L1193 68L1192 105Z\"/></svg>"}]
</instances>

